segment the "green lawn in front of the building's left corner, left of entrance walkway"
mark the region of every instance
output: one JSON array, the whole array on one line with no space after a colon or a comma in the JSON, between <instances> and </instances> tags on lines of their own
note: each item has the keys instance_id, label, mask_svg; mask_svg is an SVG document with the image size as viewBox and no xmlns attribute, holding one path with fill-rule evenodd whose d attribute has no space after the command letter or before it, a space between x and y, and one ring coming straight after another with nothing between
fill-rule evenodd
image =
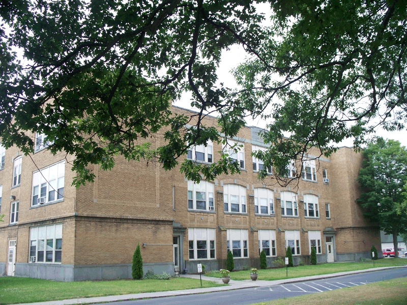
<instances>
[{"instance_id":1,"label":"green lawn in front of the building's left corner, left of entrance walkway","mask_svg":"<svg viewBox=\"0 0 407 305\"><path fill-rule=\"evenodd\" d=\"M222 286L202 281L202 288ZM55 282L31 278L1 277L0 304L31 303L82 297L120 295L200 288L199 280L171 278L170 280L116 280Z\"/></svg>"}]
</instances>

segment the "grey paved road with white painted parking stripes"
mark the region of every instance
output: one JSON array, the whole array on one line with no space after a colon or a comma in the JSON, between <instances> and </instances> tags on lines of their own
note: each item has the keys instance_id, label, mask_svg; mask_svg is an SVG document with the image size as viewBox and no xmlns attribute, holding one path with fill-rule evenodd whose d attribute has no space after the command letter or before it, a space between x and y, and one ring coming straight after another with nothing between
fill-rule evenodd
<instances>
[{"instance_id":1,"label":"grey paved road with white painted parking stripes","mask_svg":"<svg viewBox=\"0 0 407 305\"><path fill-rule=\"evenodd\" d=\"M211 292L205 294L193 294L183 296L172 296L153 299L142 299L134 301L122 301L106 303L110 305L139 305L139 304L251 304L273 299L292 297L310 293L320 293L347 287L366 285L373 282L391 280L407 277L407 269L391 269L361 273L357 275L343 276L326 280L316 280L283 284L268 287L247 288L240 290L229 290L223 292Z\"/></svg>"}]
</instances>

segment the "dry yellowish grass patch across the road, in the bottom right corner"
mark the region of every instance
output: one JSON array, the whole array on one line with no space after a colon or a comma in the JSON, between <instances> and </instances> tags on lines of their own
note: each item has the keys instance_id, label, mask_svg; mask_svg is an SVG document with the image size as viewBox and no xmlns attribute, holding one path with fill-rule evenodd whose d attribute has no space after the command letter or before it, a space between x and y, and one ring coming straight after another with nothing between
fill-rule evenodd
<instances>
[{"instance_id":1,"label":"dry yellowish grass patch across the road, in the bottom right corner","mask_svg":"<svg viewBox=\"0 0 407 305\"><path fill-rule=\"evenodd\" d=\"M283 298L257 305L403 305L407 304L407 278L351 288Z\"/></svg>"}]
</instances>

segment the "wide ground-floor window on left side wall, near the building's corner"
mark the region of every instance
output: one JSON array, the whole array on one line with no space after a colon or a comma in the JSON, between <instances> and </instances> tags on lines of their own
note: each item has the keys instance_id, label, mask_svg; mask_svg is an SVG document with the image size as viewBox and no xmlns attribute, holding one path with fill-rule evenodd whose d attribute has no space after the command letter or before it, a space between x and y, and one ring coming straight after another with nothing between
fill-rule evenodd
<instances>
[{"instance_id":1,"label":"wide ground-floor window on left side wall, near the building's corner","mask_svg":"<svg viewBox=\"0 0 407 305\"><path fill-rule=\"evenodd\" d=\"M61 263L62 224L31 228L31 263Z\"/></svg>"}]
</instances>

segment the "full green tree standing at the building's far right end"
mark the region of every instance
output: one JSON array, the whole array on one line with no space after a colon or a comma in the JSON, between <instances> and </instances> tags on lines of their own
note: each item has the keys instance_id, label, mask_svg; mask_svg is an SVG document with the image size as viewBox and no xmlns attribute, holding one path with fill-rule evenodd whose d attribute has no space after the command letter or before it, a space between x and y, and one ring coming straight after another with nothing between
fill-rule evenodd
<instances>
[{"instance_id":1,"label":"full green tree standing at the building's far right end","mask_svg":"<svg viewBox=\"0 0 407 305\"><path fill-rule=\"evenodd\" d=\"M394 249L397 249L397 235L407 229L407 208L402 205L403 186L407 181L407 150L398 141L376 138L362 155L357 179L362 194L357 202L364 208L365 217L393 236ZM397 257L397 251L395 255Z\"/></svg>"}]
</instances>

